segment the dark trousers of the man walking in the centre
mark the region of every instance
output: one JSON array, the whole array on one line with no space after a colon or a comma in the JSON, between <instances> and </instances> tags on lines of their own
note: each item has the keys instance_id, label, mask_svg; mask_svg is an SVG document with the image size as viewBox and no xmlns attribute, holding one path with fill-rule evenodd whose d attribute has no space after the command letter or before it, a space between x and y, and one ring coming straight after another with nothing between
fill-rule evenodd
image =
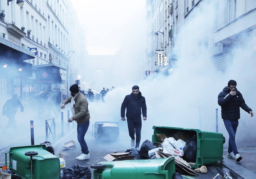
<instances>
[{"instance_id":1,"label":"dark trousers of the man walking in the centre","mask_svg":"<svg viewBox=\"0 0 256 179\"><path fill-rule=\"evenodd\" d=\"M127 125L128 125L128 131L129 131L129 136L133 140L135 140L134 134L136 133L136 144L135 148L139 147L139 142L140 142L140 131L142 128L142 121L141 117L135 118L135 119L128 119L127 118Z\"/></svg>"}]
</instances>

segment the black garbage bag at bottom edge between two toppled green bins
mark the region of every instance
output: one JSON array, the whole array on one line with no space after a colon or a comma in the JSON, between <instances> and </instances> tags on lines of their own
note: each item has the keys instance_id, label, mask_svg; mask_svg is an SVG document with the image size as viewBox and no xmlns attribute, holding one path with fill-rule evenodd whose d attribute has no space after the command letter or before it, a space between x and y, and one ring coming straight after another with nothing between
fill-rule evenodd
<instances>
[{"instance_id":1,"label":"black garbage bag at bottom edge between two toppled green bins","mask_svg":"<svg viewBox=\"0 0 256 179\"><path fill-rule=\"evenodd\" d=\"M60 171L60 179L91 179L92 172L88 167L72 165Z\"/></svg>"}]
</instances>

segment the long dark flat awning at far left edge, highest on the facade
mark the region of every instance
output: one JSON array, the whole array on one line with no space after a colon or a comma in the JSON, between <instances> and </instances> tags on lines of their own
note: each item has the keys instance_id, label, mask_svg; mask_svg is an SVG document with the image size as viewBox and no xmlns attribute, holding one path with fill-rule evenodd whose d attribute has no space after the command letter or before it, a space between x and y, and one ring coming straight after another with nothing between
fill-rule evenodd
<instances>
[{"instance_id":1,"label":"long dark flat awning at far left edge, highest on the facade","mask_svg":"<svg viewBox=\"0 0 256 179\"><path fill-rule=\"evenodd\" d=\"M0 58L23 61L35 58L35 54L0 37Z\"/></svg>"}]
</instances>

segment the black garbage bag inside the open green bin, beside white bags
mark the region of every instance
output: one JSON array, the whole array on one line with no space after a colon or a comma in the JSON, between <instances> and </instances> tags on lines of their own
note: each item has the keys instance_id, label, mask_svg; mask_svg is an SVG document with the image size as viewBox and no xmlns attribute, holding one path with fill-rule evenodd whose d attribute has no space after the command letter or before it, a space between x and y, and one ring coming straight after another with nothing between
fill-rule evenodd
<instances>
[{"instance_id":1,"label":"black garbage bag inside the open green bin, beside white bags","mask_svg":"<svg viewBox=\"0 0 256 179\"><path fill-rule=\"evenodd\" d=\"M187 162L196 162L197 159L197 137L196 135L193 138L188 139L186 145L183 148L183 159Z\"/></svg>"}]
</instances>

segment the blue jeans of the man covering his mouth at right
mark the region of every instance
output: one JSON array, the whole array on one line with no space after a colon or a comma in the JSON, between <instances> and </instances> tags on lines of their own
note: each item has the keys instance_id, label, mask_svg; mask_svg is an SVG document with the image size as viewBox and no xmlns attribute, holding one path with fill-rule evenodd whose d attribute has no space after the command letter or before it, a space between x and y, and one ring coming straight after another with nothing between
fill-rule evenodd
<instances>
[{"instance_id":1,"label":"blue jeans of the man covering his mouth at right","mask_svg":"<svg viewBox=\"0 0 256 179\"><path fill-rule=\"evenodd\" d=\"M228 153L234 152L234 154L238 154L236 144L235 144L235 133L238 126L238 120L223 120L224 125L228 131L229 134L229 140L228 140Z\"/></svg>"}]
</instances>

